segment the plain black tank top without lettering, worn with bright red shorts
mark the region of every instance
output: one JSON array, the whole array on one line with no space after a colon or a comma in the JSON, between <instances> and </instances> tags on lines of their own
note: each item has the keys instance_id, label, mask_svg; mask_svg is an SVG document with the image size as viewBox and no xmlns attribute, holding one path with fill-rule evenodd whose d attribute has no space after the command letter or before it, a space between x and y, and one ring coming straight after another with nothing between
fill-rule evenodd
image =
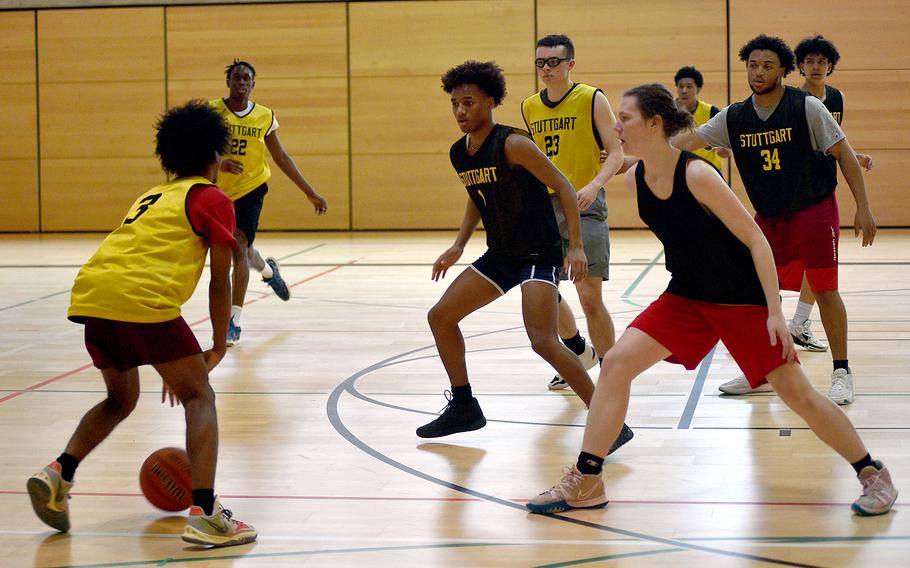
<instances>
[{"instance_id":1,"label":"plain black tank top without lettering, worn with bright red shorts","mask_svg":"<svg viewBox=\"0 0 910 568\"><path fill-rule=\"evenodd\" d=\"M663 243L672 275L667 292L714 304L767 305L749 249L689 191L686 165L691 160L705 161L681 152L666 200L645 182L644 162L635 169L638 215Z\"/></svg>"}]
</instances>

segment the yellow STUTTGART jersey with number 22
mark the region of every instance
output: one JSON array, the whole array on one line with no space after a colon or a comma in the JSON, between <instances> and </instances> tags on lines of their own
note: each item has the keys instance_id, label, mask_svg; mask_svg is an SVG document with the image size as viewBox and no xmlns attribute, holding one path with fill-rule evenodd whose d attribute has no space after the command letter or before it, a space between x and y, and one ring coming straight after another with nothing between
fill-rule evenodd
<instances>
[{"instance_id":1,"label":"yellow STUTTGART jersey with number 22","mask_svg":"<svg viewBox=\"0 0 910 568\"><path fill-rule=\"evenodd\" d=\"M243 163L242 173L218 173L218 187L237 201L264 184L272 175L265 157L265 135L272 127L275 113L268 107L253 103L248 114L238 116L223 99L209 101L209 104L224 116L231 127L231 150L224 157Z\"/></svg>"}]
</instances>

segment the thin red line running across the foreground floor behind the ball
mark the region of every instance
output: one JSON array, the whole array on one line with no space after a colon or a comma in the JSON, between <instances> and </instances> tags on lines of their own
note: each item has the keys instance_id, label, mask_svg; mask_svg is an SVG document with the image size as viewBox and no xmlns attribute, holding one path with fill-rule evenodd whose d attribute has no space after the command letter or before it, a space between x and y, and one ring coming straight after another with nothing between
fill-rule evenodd
<instances>
[{"instance_id":1,"label":"thin red line running across the foreground floor behind the ball","mask_svg":"<svg viewBox=\"0 0 910 568\"><path fill-rule=\"evenodd\" d=\"M26 491L2 491L0 495L27 495ZM70 495L88 497L142 497L142 493L116 493L106 491L73 492ZM425 502L484 502L477 497L372 497L363 495L229 495L219 493L225 499L253 499L264 501L425 501ZM524 503L527 499L509 499L513 503ZM741 505L752 507L847 507L850 503L797 502L797 501L642 501L611 499L614 505ZM897 506L901 502L895 502Z\"/></svg>"}]
</instances>

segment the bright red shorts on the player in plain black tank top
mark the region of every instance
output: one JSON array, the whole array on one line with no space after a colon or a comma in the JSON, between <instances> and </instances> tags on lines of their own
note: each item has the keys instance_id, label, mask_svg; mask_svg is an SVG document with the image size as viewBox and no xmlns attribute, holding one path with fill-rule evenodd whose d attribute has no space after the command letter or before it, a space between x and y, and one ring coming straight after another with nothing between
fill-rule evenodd
<instances>
[{"instance_id":1,"label":"bright red shorts on the player in plain black tank top","mask_svg":"<svg viewBox=\"0 0 910 568\"><path fill-rule=\"evenodd\" d=\"M768 337L768 308L747 304L711 304L664 292L629 327L647 333L666 347L670 363L694 369L718 341L723 341L752 388L787 360L780 341Z\"/></svg>"}]
</instances>

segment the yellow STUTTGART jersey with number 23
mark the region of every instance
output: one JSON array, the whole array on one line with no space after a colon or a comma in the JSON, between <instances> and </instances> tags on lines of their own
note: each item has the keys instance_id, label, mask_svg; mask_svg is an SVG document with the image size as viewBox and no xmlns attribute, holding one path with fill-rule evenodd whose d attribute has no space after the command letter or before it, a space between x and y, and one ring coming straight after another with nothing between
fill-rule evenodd
<instances>
[{"instance_id":1,"label":"yellow STUTTGART jersey with number 23","mask_svg":"<svg viewBox=\"0 0 910 568\"><path fill-rule=\"evenodd\" d=\"M559 101L546 90L521 103L521 115L537 147L569 178L576 191L600 171L603 143L594 128L594 96L600 91L576 83ZM550 189L550 193L554 193Z\"/></svg>"}]
</instances>

